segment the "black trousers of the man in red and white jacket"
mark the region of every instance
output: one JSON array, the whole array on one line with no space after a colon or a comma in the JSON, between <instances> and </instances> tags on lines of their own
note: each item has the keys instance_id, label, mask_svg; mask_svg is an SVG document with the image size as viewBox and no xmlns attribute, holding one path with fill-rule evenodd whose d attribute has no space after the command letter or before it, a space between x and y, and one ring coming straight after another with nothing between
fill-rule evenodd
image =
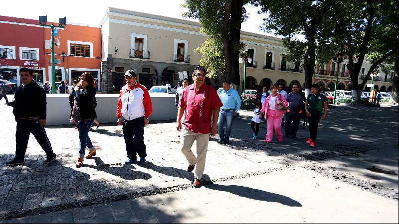
<instances>
[{"instance_id":1,"label":"black trousers of the man in red and white jacket","mask_svg":"<svg viewBox=\"0 0 399 224\"><path fill-rule=\"evenodd\" d=\"M144 116L133 120L123 121L123 137L125 138L127 157L131 160L137 160L137 154L140 157L146 157L146 145L144 144Z\"/></svg>"}]
</instances>

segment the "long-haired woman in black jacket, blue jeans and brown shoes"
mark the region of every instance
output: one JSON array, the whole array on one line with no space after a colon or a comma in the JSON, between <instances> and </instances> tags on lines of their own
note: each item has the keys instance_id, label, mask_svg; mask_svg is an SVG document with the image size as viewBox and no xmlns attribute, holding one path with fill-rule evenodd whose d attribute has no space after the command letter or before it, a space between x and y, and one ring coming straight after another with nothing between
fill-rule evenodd
<instances>
[{"instance_id":1,"label":"long-haired woman in black jacket, blue jeans and brown shoes","mask_svg":"<svg viewBox=\"0 0 399 224\"><path fill-rule=\"evenodd\" d=\"M96 149L91 143L89 137L89 129L93 123L94 118L97 117L96 111L94 110L94 99L96 96L96 90L93 87L93 76L90 73L85 72L80 76L79 84L75 91L71 93L73 99L73 108L71 115L71 123L76 123L79 130L79 157L76 162L76 167L83 166L84 154L86 146L89 148L89 154L86 159L96 155Z\"/></svg>"}]
</instances>

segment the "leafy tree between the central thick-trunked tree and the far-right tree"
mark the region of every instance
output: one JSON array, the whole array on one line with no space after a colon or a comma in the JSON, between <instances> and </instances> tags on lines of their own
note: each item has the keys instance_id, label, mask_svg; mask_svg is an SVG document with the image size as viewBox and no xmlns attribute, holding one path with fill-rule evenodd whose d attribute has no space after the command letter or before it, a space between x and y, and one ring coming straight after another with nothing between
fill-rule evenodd
<instances>
[{"instance_id":1,"label":"leafy tree between the central thick-trunked tree and the far-right tree","mask_svg":"<svg viewBox=\"0 0 399 224\"><path fill-rule=\"evenodd\" d=\"M316 63L325 63L331 57L329 46L333 24L331 22L334 0L252 0L260 12L269 13L260 27L264 31L283 36L288 49L287 59L303 58L305 90L310 93ZM296 34L305 40L294 39Z\"/></svg>"}]
</instances>

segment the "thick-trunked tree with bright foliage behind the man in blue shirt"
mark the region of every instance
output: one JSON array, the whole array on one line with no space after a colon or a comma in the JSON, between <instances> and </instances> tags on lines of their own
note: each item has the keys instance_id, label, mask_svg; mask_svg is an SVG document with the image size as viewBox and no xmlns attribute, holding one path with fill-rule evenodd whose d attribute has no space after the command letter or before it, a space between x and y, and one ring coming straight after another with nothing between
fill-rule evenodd
<instances>
[{"instance_id":1,"label":"thick-trunked tree with bright foliage behind the man in blue shirt","mask_svg":"<svg viewBox=\"0 0 399 224\"><path fill-rule=\"evenodd\" d=\"M184 7L189 9L184 16L198 19L202 24L201 32L208 36L202 46L197 48L197 52L204 56L201 63L210 69L212 75L223 68L225 79L234 84L240 83L238 56L242 47L241 23L246 19L243 5L247 2L247 0L185 0L184 4Z\"/></svg>"}]
</instances>

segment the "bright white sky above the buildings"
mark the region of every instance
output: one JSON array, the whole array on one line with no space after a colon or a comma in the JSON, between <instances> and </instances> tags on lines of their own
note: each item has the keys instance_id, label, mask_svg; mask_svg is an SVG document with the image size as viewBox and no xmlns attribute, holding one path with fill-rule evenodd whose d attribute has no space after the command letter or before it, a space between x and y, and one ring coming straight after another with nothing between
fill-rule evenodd
<instances>
[{"instance_id":1,"label":"bright white sky above the buildings","mask_svg":"<svg viewBox=\"0 0 399 224\"><path fill-rule=\"evenodd\" d=\"M133 11L146 12L168 17L188 19L182 16L187 11L182 6L184 0L2 0L0 15L19 18L38 19L39 15L47 15L47 21L58 22L65 17L67 23L83 23L100 25L107 7L116 7ZM65 5L63 5L65 4ZM260 31L265 15L258 15L253 5L245 6L248 19L241 25L241 30L274 36ZM193 19L188 19L193 20Z\"/></svg>"}]
</instances>

